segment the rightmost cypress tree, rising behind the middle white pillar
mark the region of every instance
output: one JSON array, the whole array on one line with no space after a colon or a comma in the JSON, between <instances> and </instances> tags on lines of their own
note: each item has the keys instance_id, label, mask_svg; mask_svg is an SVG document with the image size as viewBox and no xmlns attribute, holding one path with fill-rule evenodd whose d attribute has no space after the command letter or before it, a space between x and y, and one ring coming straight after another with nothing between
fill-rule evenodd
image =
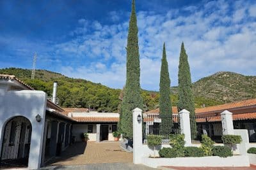
<instances>
[{"instance_id":1,"label":"rightmost cypress tree, rising behind the middle white pillar","mask_svg":"<svg viewBox=\"0 0 256 170\"><path fill-rule=\"evenodd\" d=\"M192 92L191 73L188 55L182 42L179 60L179 86L178 86L178 111L186 109L190 112L191 136L196 136L195 103Z\"/></svg>"}]
</instances>

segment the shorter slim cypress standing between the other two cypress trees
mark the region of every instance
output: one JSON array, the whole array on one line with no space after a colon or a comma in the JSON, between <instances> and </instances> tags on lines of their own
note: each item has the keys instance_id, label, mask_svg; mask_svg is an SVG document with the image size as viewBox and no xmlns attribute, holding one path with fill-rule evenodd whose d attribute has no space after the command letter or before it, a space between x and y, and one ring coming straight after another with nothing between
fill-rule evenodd
<instances>
[{"instance_id":1,"label":"shorter slim cypress standing between the other two cypress trees","mask_svg":"<svg viewBox=\"0 0 256 170\"><path fill-rule=\"evenodd\" d=\"M160 98L159 110L160 118L160 134L166 136L172 131L172 103L170 99L170 76L168 71L168 62L166 60L165 43L163 46L163 59L160 73Z\"/></svg>"}]
</instances>

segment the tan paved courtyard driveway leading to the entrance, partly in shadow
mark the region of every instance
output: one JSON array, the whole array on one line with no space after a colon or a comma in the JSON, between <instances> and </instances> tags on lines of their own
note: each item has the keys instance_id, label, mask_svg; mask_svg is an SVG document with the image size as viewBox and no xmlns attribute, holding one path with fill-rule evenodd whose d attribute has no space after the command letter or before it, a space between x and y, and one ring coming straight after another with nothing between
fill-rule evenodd
<instances>
[{"instance_id":1,"label":"tan paved courtyard driveway leading to the entrance, partly in shadow","mask_svg":"<svg viewBox=\"0 0 256 170\"><path fill-rule=\"evenodd\" d=\"M132 163L132 153L120 148L119 142L88 142L76 143L65 150L58 157L48 163L47 166L68 166L99 163Z\"/></svg>"}]
</instances>

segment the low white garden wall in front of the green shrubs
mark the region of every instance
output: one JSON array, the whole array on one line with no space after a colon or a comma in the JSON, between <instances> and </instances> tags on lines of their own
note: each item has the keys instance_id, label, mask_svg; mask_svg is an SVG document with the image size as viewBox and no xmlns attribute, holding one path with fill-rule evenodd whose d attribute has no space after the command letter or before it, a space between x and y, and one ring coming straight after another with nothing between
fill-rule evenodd
<instances>
[{"instance_id":1,"label":"low white garden wall in front of the green shrubs","mask_svg":"<svg viewBox=\"0 0 256 170\"><path fill-rule=\"evenodd\" d=\"M178 167L248 167L250 160L247 155L233 157L177 157L177 158L149 158L143 157L141 163L145 166L157 168L159 166Z\"/></svg>"}]
</instances>

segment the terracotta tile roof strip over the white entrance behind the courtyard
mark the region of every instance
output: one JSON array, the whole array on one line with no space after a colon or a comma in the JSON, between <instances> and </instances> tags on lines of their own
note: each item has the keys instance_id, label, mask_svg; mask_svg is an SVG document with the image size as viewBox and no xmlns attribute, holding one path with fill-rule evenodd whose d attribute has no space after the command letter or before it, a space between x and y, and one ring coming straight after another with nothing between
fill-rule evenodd
<instances>
[{"instance_id":1,"label":"terracotta tile roof strip over the white entrance behind the courtyard","mask_svg":"<svg viewBox=\"0 0 256 170\"><path fill-rule=\"evenodd\" d=\"M77 122L118 122L118 117L73 117Z\"/></svg>"}]
</instances>

